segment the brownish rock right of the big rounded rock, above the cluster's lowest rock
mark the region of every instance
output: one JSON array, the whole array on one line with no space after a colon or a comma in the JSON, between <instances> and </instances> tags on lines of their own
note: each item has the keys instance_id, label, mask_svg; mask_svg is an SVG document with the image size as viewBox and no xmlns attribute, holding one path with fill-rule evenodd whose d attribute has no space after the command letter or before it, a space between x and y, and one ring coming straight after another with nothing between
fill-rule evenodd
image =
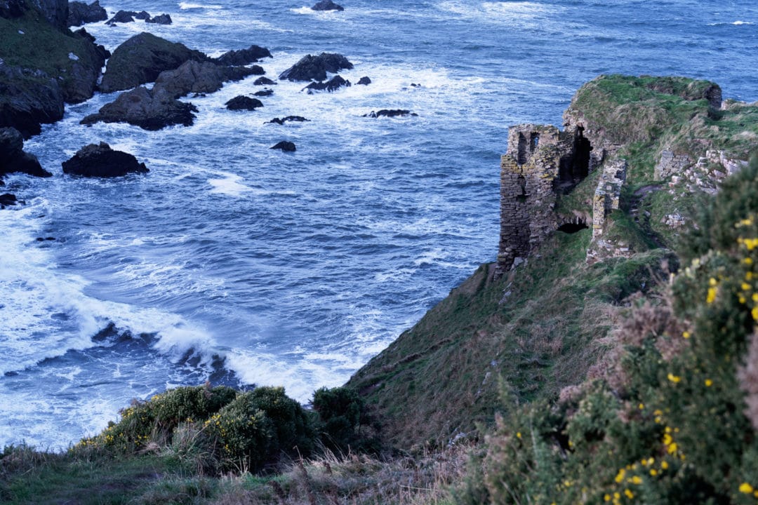
<instances>
[{"instance_id":1,"label":"brownish rock right of the big rounded rock, above the cluster's lowest rock","mask_svg":"<svg viewBox=\"0 0 758 505\"><path fill-rule=\"evenodd\" d=\"M248 67L220 67L210 61L186 61L175 70L165 70L155 79L153 92L164 90L174 98L189 93L212 93L227 81L238 81L255 75Z\"/></svg>"}]
</instances>

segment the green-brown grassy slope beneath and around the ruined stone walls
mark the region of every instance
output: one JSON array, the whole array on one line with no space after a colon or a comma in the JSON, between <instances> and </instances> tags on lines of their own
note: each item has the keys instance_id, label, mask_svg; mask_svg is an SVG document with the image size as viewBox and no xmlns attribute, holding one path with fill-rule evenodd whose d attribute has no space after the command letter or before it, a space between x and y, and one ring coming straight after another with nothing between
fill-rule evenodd
<instances>
[{"instance_id":1,"label":"green-brown grassy slope beneath and around the ruined stone walls","mask_svg":"<svg viewBox=\"0 0 758 505\"><path fill-rule=\"evenodd\" d=\"M582 86L569 111L606 141L621 144L619 155L629 164L622 210L610 215L606 236L631 244L636 254L587 267L585 230L556 233L527 267L506 279L493 282L489 267L481 267L350 380L374 406L387 438L401 447L438 444L490 422L500 379L520 401L555 397L584 379L603 356L603 338L625 297L650 288L670 255L657 244L673 245L676 232L660 217L697 208L698 195L686 189L635 195L660 185L653 181L660 151L672 148L697 160L706 148L719 148L747 159L755 145L750 139L758 131L758 108L731 104L714 111L705 98L713 86L630 76L600 76ZM596 179L562 196L556 211L589 213ZM649 224L628 214L633 202L651 213Z\"/></svg>"}]
</instances>

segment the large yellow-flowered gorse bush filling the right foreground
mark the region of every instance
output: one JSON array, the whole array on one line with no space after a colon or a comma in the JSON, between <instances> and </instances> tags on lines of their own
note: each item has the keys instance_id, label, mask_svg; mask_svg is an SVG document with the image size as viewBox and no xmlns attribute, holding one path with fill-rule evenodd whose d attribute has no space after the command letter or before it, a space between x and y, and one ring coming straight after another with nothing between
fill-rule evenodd
<instances>
[{"instance_id":1,"label":"large yellow-flowered gorse bush filling the right foreground","mask_svg":"<svg viewBox=\"0 0 758 505\"><path fill-rule=\"evenodd\" d=\"M506 400L460 501L758 503L756 195L753 161L703 209L685 267L634 303L592 379L553 404Z\"/></svg>"}]
</instances>

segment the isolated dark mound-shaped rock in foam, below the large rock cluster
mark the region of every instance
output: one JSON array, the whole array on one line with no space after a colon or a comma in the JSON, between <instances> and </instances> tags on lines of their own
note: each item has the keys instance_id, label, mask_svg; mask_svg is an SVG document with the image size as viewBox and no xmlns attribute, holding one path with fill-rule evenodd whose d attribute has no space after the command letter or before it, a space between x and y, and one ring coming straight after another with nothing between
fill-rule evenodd
<instances>
[{"instance_id":1,"label":"isolated dark mound-shaped rock in foam, below the large rock cluster","mask_svg":"<svg viewBox=\"0 0 758 505\"><path fill-rule=\"evenodd\" d=\"M63 173L83 177L121 177L127 173L147 173L144 163L123 151L114 151L105 142L89 144L63 162Z\"/></svg>"}]
</instances>

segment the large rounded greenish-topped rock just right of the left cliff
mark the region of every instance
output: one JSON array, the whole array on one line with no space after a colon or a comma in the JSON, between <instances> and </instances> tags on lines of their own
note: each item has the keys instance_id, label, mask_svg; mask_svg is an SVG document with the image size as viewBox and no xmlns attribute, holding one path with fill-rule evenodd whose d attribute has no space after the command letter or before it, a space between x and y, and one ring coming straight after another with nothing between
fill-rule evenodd
<instances>
[{"instance_id":1,"label":"large rounded greenish-topped rock just right of the left cliff","mask_svg":"<svg viewBox=\"0 0 758 505\"><path fill-rule=\"evenodd\" d=\"M108 60L100 89L111 93L152 83L164 70L174 70L185 61L207 61L200 51L168 42L151 33L140 33L119 45Z\"/></svg>"}]
</instances>

